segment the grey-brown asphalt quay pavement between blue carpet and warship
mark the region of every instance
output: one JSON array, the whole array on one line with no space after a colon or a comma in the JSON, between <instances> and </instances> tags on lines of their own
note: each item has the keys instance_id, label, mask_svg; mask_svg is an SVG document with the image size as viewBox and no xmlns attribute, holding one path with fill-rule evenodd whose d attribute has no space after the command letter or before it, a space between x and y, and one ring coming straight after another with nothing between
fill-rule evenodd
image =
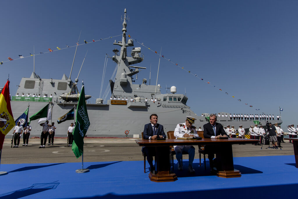
<instances>
[{"instance_id":1,"label":"grey-brown asphalt quay pavement between blue carpet and warship","mask_svg":"<svg viewBox=\"0 0 298 199\"><path fill-rule=\"evenodd\" d=\"M142 147L137 145L135 140L136 138L85 138L84 162L143 160ZM45 148L39 149L40 139L29 139L29 145L22 146L23 140L21 138L18 148L10 148L11 139L5 139L1 164L81 162L81 157L78 159L75 157L71 147L67 146L66 141L66 138L56 138L53 146L46 145ZM281 146L283 146L282 150L280 148L266 149L268 145L264 145L263 149L261 149L261 146L252 144L233 145L233 156L294 155L293 144L289 143L288 140L286 143L282 143ZM197 146L195 148L197 149ZM195 158L199 158L197 150ZM183 155L183 159L188 159L188 156Z\"/></svg>"}]
</instances>

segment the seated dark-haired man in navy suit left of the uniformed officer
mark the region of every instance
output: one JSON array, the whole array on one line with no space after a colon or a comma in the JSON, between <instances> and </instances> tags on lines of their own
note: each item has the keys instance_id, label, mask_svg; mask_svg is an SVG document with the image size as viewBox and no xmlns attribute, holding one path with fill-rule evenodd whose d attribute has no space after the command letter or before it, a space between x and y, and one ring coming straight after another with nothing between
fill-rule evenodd
<instances>
[{"instance_id":1,"label":"seated dark-haired man in navy suit left of the uniformed officer","mask_svg":"<svg viewBox=\"0 0 298 199\"><path fill-rule=\"evenodd\" d=\"M157 123L157 115L150 115L150 123L144 126L143 138L145 140L156 140L157 138L166 138L163 125ZM150 165L150 170L155 170L153 166L153 156L155 155L155 147L142 147L142 152L147 155L147 161Z\"/></svg>"}]
</instances>

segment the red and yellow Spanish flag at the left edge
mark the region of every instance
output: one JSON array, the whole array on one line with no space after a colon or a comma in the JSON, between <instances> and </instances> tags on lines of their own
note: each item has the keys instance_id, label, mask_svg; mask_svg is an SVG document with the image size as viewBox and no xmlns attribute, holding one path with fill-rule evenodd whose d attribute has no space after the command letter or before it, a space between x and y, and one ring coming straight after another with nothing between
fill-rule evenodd
<instances>
[{"instance_id":1,"label":"red and yellow Spanish flag at the left edge","mask_svg":"<svg viewBox=\"0 0 298 199\"><path fill-rule=\"evenodd\" d=\"M2 149L5 135L15 126L13 112L10 107L9 81L7 80L0 95L0 149Z\"/></svg>"}]
</instances>

